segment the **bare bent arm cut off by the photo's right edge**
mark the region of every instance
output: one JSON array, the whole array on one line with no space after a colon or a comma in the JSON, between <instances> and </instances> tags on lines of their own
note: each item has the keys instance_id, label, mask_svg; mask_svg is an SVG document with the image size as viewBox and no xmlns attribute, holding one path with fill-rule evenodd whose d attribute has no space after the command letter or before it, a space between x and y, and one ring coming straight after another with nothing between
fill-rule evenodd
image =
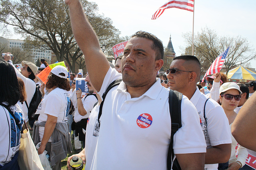
<instances>
[{"instance_id":1,"label":"bare bent arm cut off by the photo's right edge","mask_svg":"<svg viewBox=\"0 0 256 170\"><path fill-rule=\"evenodd\" d=\"M236 141L247 149L256 151L256 93L245 102L231 128Z\"/></svg>"}]
</instances>

